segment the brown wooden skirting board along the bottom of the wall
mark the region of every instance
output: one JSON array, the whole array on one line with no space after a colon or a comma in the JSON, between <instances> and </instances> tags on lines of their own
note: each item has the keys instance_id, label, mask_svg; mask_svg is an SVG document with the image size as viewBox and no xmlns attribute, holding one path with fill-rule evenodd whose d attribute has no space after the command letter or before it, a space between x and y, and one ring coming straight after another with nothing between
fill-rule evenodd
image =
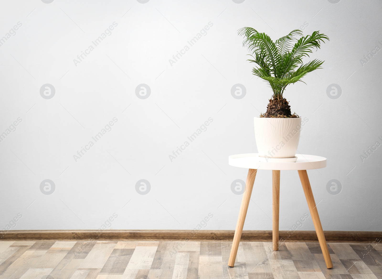
<instances>
[{"instance_id":1,"label":"brown wooden skirting board along the bottom of the wall","mask_svg":"<svg viewBox=\"0 0 382 279\"><path fill-rule=\"evenodd\" d=\"M232 241L234 230L8 230L0 241ZM382 232L324 231L327 242L370 242ZM281 230L280 241L318 242L315 231ZM243 230L241 241L272 241L271 230Z\"/></svg>"}]
</instances>

